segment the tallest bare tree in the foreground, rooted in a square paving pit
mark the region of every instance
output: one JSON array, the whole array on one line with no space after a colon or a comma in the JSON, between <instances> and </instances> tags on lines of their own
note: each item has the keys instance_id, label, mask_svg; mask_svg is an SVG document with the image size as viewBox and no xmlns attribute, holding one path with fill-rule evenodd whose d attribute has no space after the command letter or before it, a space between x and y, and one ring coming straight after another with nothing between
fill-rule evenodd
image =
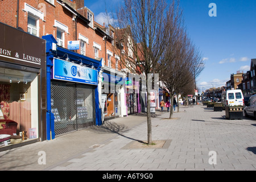
<instances>
[{"instance_id":1,"label":"tallest bare tree in the foreground, rooted in a square paving pit","mask_svg":"<svg viewBox=\"0 0 256 182\"><path fill-rule=\"evenodd\" d=\"M180 13L175 1L166 0L125 0L116 13L119 27L117 30L118 46L122 50L123 67L132 73L143 73L146 82L152 73L159 73L166 68L163 59L170 32ZM170 22L171 20L171 22ZM120 34L120 32L122 32ZM152 143L150 89L147 86L147 139Z\"/></svg>"}]
</instances>

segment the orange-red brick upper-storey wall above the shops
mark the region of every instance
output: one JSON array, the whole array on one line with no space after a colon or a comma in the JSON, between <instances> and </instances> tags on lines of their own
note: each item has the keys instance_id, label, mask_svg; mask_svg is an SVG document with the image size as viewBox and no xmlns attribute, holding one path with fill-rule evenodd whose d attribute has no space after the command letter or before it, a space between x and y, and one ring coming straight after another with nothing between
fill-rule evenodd
<instances>
[{"instance_id":1,"label":"orange-red brick upper-storey wall above the shops","mask_svg":"<svg viewBox=\"0 0 256 182\"><path fill-rule=\"evenodd\" d=\"M24 11L25 6L24 3L34 7L35 9L42 11L44 13L44 18L39 19L39 37L47 34L52 34L56 39L57 36L57 27L54 26L55 19L60 23L68 26L68 32L64 33L64 47L67 48L68 40L77 40L79 38L79 34L86 36L89 39L89 44L86 44L86 56L94 59L94 47L93 42L96 42L101 45L101 51L99 51L98 57L104 58L105 65L108 63L108 56L105 52L105 41L102 39L104 35L98 33L93 28L89 27L85 22L81 19L77 19L77 35L76 35L76 22L72 20L73 14L65 9L65 7L61 6L59 3L54 1L54 5L48 3L44 0L19 0L19 24L18 26L22 28L25 32L27 32L27 19L28 13ZM84 6L84 0L63 0L63 2L68 3L69 6L73 7L73 9L81 8ZM77 3L77 6L76 6ZM7 1L0 0L0 22L9 24L12 27L16 27L16 10L17 10L17 1ZM87 10L86 8L79 11L81 15L84 15L87 18ZM113 52L112 57L112 68L115 68L115 57L114 51L112 48L112 43L106 41L106 49L109 49ZM80 50L76 51L80 53Z\"/></svg>"}]
</instances>

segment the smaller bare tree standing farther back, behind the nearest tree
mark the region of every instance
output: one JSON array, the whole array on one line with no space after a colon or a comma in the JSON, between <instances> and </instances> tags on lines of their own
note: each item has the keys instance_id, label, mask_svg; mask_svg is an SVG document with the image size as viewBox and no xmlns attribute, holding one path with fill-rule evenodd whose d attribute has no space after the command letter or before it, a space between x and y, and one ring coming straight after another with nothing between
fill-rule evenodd
<instances>
[{"instance_id":1,"label":"smaller bare tree standing farther back, behind the nearest tree","mask_svg":"<svg viewBox=\"0 0 256 182\"><path fill-rule=\"evenodd\" d=\"M175 94L179 94L184 86L191 83L204 67L197 67L201 63L201 56L191 40L187 37L187 32L182 26L174 27L170 31L170 42L164 52L164 59L168 60L166 69L161 72L160 80L170 92L171 106L173 106ZM170 118L173 110L170 110Z\"/></svg>"}]
</instances>

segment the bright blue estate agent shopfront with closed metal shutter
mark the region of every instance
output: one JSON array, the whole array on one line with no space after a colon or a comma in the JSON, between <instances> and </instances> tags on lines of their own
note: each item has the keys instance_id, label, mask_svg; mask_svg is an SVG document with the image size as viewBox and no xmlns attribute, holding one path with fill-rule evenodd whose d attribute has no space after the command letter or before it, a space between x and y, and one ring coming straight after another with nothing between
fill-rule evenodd
<instances>
[{"instance_id":1,"label":"bright blue estate agent shopfront with closed metal shutter","mask_svg":"<svg viewBox=\"0 0 256 182\"><path fill-rule=\"evenodd\" d=\"M102 125L98 74L102 60L92 59L46 40L47 139Z\"/></svg>"}]
</instances>

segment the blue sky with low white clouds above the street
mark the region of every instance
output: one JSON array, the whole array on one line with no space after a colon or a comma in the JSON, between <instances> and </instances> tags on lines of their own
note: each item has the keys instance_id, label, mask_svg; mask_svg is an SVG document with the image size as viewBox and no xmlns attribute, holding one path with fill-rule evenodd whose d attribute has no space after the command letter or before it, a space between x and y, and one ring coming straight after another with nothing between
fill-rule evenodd
<instances>
[{"instance_id":1,"label":"blue sky with low white clouds above the street","mask_svg":"<svg viewBox=\"0 0 256 182\"><path fill-rule=\"evenodd\" d=\"M120 0L85 0L85 6L93 11L100 24L104 22L106 9L115 12L120 3ZM237 71L250 70L251 59L256 58L255 0L180 0L180 5L188 36L204 60L204 70L196 78L199 93L225 86L230 75ZM210 16L209 12L216 16Z\"/></svg>"}]
</instances>

